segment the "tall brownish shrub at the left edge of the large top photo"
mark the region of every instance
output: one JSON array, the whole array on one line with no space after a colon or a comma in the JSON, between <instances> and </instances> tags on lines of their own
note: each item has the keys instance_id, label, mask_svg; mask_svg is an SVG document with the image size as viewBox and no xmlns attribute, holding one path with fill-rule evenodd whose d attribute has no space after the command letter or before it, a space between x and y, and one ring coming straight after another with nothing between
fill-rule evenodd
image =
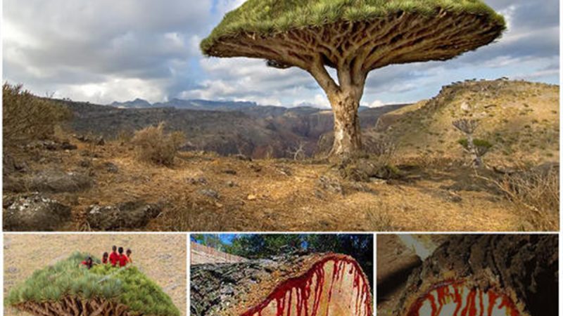
<instances>
[{"instance_id":1,"label":"tall brownish shrub at the left edge of the large top photo","mask_svg":"<svg viewBox=\"0 0 563 316\"><path fill-rule=\"evenodd\" d=\"M2 85L2 131L4 145L46 139L55 133L55 127L72 117L67 107L54 100L39 98L22 85Z\"/></svg>"}]
</instances>

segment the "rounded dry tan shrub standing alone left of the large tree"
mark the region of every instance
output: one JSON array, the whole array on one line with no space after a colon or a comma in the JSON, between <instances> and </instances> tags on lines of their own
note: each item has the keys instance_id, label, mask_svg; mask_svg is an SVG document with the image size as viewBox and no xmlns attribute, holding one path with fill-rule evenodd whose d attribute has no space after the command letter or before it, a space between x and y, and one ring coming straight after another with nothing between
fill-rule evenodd
<instances>
[{"instance_id":1,"label":"rounded dry tan shrub standing alone left of the large tree","mask_svg":"<svg viewBox=\"0 0 563 316\"><path fill-rule=\"evenodd\" d=\"M139 159L164 166L174 164L174 158L185 141L186 136L182 132L165 133L164 123L141 129L132 139Z\"/></svg>"}]
</instances>

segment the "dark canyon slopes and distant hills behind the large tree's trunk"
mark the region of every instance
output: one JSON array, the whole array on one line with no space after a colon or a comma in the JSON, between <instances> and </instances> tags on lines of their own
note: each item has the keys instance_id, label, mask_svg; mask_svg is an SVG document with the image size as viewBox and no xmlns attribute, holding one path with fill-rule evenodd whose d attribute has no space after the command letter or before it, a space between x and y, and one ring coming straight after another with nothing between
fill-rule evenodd
<instances>
[{"instance_id":1,"label":"dark canyon slopes and distant hills behind the large tree's trunk","mask_svg":"<svg viewBox=\"0 0 563 316\"><path fill-rule=\"evenodd\" d=\"M314 107L272 107L255 103L172 100L147 107L144 100L120 107L61 101L74 112L70 129L109 139L165 121L168 130L183 131L185 150L205 150L222 155L245 154L253 158L291 157L303 145L307 155L317 150L320 136L333 128L332 112ZM139 105L139 107L137 107ZM362 126L375 126L381 114L403 105L362 108Z\"/></svg>"}]
</instances>

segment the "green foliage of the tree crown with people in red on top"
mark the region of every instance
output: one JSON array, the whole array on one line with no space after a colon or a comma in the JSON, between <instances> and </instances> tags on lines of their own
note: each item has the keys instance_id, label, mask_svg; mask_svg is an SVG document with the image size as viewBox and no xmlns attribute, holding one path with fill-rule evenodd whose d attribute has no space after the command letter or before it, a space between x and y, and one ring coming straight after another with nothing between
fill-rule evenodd
<instances>
[{"instance_id":1,"label":"green foliage of the tree crown with people in red on top","mask_svg":"<svg viewBox=\"0 0 563 316\"><path fill-rule=\"evenodd\" d=\"M64 261L35 271L29 279L11 289L6 304L54 302L70 295L119 301L129 306L131 312L141 314L179 315L172 299L136 267L98 264L87 270L80 267L87 256L76 252ZM98 259L94 262L100 263Z\"/></svg>"}]
</instances>

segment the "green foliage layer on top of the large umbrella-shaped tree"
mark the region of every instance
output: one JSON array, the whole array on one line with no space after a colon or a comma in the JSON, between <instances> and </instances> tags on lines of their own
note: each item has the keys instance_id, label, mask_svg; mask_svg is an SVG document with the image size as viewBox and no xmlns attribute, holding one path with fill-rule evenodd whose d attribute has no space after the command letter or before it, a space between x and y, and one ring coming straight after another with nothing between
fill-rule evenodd
<instances>
[{"instance_id":1,"label":"green foliage layer on top of the large umbrella-shaped tree","mask_svg":"<svg viewBox=\"0 0 563 316\"><path fill-rule=\"evenodd\" d=\"M248 0L224 16L210 36L201 42L201 49L205 53L220 38L244 32L273 34L339 21L373 20L399 12L431 16L440 9L484 15L505 27L502 15L480 0Z\"/></svg>"}]
</instances>

